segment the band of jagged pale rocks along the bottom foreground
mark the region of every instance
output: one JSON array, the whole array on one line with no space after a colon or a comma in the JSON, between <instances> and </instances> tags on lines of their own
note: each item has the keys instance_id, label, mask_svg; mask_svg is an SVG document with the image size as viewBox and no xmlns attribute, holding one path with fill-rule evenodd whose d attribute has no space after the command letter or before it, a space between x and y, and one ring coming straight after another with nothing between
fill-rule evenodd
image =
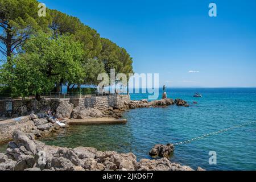
<instances>
[{"instance_id":1,"label":"band of jagged pale rocks along the bottom foreground","mask_svg":"<svg viewBox=\"0 0 256 182\"><path fill-rule=\"evenodd\" d=\"M134 154L114 151L97 151L91 147L65 148L47 146L33 135L15 131L6 154L0 154L0 170L17 171L192 171L167 158L142 159L137 162ZM201 168L199 168L201 169Z\"/></svg>"}]
</instances>

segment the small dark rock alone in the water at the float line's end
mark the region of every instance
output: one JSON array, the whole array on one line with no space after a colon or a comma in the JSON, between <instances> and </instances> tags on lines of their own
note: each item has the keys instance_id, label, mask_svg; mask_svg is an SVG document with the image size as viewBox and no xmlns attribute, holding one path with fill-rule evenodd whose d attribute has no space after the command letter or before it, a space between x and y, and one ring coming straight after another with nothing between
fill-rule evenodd
<instances>
[{"instance_id":1,"label":"small dark rock alone in the water at the float line's end","mask_svg":"<svg viewBox=\"0 0 256 182\"><path fill-rule=\"evenodd\" d=\"M149 154L151 156L160 156L160 157L166 157L171 155L171 153L174 152L174 144L168 143L166 146L163 144L156 144Z\"/></svg>"}]
</instances>

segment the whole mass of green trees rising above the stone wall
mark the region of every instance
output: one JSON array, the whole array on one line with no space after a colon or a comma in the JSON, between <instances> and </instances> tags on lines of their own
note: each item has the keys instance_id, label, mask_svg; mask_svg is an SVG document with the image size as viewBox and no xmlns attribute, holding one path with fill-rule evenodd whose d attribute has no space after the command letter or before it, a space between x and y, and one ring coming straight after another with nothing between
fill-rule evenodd
<instances>
[{"instance_id":1,"label":"whole mass of green trees rising above the stone wall","mask_svg":"<svg viewBox=\"0 0 256 182\"><path fill-rule=\"evenodd\" d=\"M133 73L125 48L101 38L79 18L47 9L36 0L0 0L0 87L13 96L50 92L56 86L97 85L99 73ZM18 54L19 53L19 54ZM4 89L6 90L6 89ZM0 89L1 92L1 89Z\"/></svg>"}]
</instances>

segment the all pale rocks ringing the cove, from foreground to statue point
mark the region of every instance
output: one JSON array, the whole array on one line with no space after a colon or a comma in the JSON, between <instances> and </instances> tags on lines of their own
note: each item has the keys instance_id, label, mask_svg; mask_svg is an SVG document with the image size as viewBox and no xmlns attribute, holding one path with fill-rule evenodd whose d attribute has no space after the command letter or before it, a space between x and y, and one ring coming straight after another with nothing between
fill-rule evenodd
<instances>
[{"instance_id":1,"label":"all pale rocks ringing the cove, from foreground to statue point","mask_svg":"<svg viewBox=\"0 0 256 182\"><path fill-rule=\"evenodd\" d=\"M124 102L122 106L109 107L100 111L93 108L75 107L61 102L55 109L55 116L65 123L70 115L74 119L113 117L121 118L123 112L129 109L143 107L167 107L169 105L188 106L183 100L163 99L148 102L147 100ZM65 148L47 146L36 138L45 137L53 132L68 127L59 126L54 119L42 114L31 114L31 131L13 132L13 142L9 142L6 154L0 154L1 170L51 170L51 171L86 171L86 170L119 170L119 171L192 171L193 169L180 164L171 163L168 156L174 151L172 144L156 145L149 152L150 155L163 157L158 160L142 159L137 162L134 154L118 154L115 151L97 151L96 148L77 147ZM198 168L198 170L203 170Z\"/></svg>"}]
</instances>

